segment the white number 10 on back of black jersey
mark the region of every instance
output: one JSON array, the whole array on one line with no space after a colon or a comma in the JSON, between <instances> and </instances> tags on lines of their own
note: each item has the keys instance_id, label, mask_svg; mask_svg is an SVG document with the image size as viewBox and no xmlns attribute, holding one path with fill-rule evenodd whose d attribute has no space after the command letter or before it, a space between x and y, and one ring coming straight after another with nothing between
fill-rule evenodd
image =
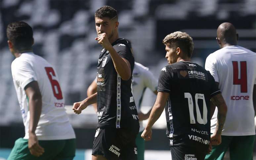
<instances>
[{"instance_id":1,"label":"white number 10 on back of black jersey","mask_svg":"<svg viewBox=\"0 0 256 160\"><path fill-rule=\"evenodd\" d=\"M195 124L194 103L193 103L192 95L190 93L184 93L184 96L185 98L188 99L190 124ZM203 118L201 117L201 111L198 105L198 99L203 100ZM207 107L204 99L204 94L200 94L200 93L195 94L195 109L196 109L197 122L199 124L207 124Z\"/></svg>"}]
</instances>

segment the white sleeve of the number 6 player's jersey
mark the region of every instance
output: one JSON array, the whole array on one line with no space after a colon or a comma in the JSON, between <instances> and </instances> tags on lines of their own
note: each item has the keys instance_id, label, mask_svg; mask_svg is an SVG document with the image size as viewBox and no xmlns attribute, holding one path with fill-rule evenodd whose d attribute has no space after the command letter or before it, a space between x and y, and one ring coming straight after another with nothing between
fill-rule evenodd
<instances>
[{"instance_id":1,"label":"white sleeve of the number 6 player's jersey","mask_svg":"<svg viewBox=\"0 0 256 160\"><path fill-rule=\"evenodd\" d=\"M32 66L26 61L16 61L12 63L12 75L13 80L21 86L21 88L25 88L27 84L32 81L37 81L36 75Z\"/></svg>"}]
</instances>

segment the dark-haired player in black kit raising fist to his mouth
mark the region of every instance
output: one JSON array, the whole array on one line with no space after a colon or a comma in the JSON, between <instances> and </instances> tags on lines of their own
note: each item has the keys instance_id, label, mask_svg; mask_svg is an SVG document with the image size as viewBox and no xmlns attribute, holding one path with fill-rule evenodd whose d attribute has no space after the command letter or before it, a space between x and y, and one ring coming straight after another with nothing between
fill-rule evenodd
<instances>
[{"instance_id":1,"label":"dark-haired player in black kit raising fist to his mouth","mask_svg":"<svg viewBox=\"0 0 256 160\"><path fill-rule=\"evenodd\" d=\"M139 118L131 89L134 57L130 43L118 36L118 24L112 7L103 6L96 11L95 40L103 47L97 66L97 93L73 105L74 112L80 114L97 102L92 160L137 160Z\"/></svg>"}]
</instances>

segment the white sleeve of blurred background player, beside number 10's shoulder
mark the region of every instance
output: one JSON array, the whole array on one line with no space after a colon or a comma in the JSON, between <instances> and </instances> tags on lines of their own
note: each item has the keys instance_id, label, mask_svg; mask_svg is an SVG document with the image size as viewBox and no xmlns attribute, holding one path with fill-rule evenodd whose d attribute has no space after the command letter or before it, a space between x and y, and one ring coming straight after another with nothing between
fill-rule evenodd
<instances>
[{"instance_id":1,"label":"white sleeve of blurred background player, beside number 10's shoulder","mask_svg":"<svg viewBox=\"0 0 256 160\"><path fill-rule=\"evenodd\" d=\"M148 87L152 92L157 90L157 80L149 69L145 69L143 78L146 87Z\"/></svg>"}]
</instances>

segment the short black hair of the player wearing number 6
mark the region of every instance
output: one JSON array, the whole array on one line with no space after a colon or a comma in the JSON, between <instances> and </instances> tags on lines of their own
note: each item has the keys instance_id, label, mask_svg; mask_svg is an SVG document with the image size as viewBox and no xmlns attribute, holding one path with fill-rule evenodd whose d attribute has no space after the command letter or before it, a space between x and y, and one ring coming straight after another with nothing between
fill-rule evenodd
<instances>
[{"instance_id":1,"label":"short black hair of the player wearing number 6","mask_svg":"<svg viewBox=\"0 0 256 160\"><path fill-rule=\"evenodd\" d=\"M16 50L30 49L33 43L33 30L23 21L12 22L6 29L7 38Z\"/></svg>"}]
</instances>

